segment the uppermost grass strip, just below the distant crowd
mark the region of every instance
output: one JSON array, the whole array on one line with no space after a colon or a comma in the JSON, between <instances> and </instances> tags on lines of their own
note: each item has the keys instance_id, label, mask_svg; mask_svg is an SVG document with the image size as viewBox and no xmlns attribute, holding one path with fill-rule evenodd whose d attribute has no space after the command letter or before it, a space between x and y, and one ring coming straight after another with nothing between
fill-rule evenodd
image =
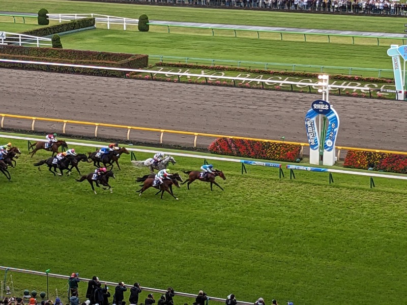
<instances>
[{"instance_id":1,"label":"uppermost grass strip, just below the distant crowd","mask_svg":"<svg viewBox=\"0 0 407 305\"><path fill-rule=\"evenodd\" d=\"M129 18L138 18L141 14L147 14L150 20L166 21L303 27L385 33L401 33L403 30L403 19L391 17L376 18L371 16L339 16L247 10L226 11L223 9L149 7L144 5L59 0L36 0L33 2L0 0L0 7L5 11L16 12L37 13L41 8L46 8L50 13L98 13Z\"/></svg>"}]
</instances>

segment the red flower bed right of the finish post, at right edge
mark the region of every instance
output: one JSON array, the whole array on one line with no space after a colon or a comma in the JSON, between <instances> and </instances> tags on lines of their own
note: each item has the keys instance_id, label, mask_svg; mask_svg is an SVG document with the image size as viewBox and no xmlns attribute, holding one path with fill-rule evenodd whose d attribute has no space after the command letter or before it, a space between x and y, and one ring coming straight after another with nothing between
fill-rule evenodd
<instances>
[{"instance_id":1,"label":"red flower bed right of the finish post, at right edge","mask_svg":"<svg viewBox=\"0 0 407 305\"><path fill-rule=\"evenodd\" d=\"M375 153L363 150L348 150L343 167L380 170L407 174L407 156Z\"/></svg>"}]
</instances>

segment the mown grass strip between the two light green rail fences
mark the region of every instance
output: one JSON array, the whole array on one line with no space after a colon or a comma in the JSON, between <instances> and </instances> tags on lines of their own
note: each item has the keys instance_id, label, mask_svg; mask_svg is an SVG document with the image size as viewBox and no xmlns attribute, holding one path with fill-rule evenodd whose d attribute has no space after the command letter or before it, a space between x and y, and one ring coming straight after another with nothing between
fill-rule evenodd
<instances>
[{"instance_id":1,"label":"mown grass strip between the two light green rail fences","mask_svg":"<svg viewBox=\"0 0 407 305\"><path fill-rule=\"evenodd\" d=\"M253 38L212 37L95 29L63 36L64 48L239 59L270 63L391 69L385 46L286 42ZM199 46L199 47L197 47ZM230 46L233 46L232 48ZM301 49L301 54L298 53ZM374 75L375 76L375 75Z\"/></svg>"}]
</instances>

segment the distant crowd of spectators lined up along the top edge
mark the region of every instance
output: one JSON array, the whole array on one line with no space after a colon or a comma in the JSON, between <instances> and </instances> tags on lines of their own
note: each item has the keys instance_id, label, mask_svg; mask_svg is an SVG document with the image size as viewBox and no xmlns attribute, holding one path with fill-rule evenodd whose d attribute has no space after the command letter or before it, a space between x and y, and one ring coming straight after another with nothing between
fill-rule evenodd
<instances>
[{"instance_id":1,"label":"distant crowd of spectators lined up along the top edge","mask_svg":"<svg viewBox=\"0 0 407 305\"><path fill-rule=\"evenodd\" d=\"M137 2L178 3L315 12L341 12L407 16L407 3L391 0L136 0Z\"/></svg>"}]
</instances>

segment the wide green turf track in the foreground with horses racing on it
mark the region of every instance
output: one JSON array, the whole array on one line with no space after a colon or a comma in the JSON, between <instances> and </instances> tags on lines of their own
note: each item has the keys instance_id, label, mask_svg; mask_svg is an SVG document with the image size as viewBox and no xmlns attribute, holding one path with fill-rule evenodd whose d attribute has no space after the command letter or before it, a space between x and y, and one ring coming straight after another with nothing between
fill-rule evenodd
<instances>
[{"instance_id":1,"label":"wide green turf track in the foreground with horses racing on it","mask_svg":"<svg viewBox=\"0 0 407 305\"><path fill-rule=\"evenodd\" d=\"M191 293L203 288L218 297L234 292L246 301L407 301L405 181L377 178L370 190L368 177L334 174L328 185L327 173L297 172L296 180L280 180L276 169L248 166L242 176L239 164L214 162L226 174L224 192L194 182L190 191L176 190L179 201L160 200L152 190L136 196L133 181L148 171L135 169L125 156L111 181L113 194L94 195L87 182L74 181L77 173L39 172L32 163L49 154L31 159L26 141L12 142L23 155L10 170L12 182L0 176L1 265L79 271L81 277ZM176 160L173 171L202 164ZM81 169L87 173L92 166ZM14 278L21 287L45 283Z\"/></svg>"}]
</instances>

